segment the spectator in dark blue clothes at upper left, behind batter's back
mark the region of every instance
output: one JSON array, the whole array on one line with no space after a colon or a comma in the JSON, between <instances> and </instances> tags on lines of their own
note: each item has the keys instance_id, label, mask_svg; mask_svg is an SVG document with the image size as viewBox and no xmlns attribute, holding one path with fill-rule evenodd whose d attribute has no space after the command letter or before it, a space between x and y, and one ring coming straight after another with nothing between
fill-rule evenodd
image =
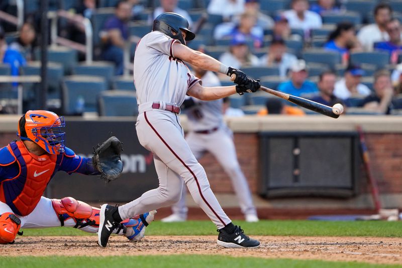
<instances>
[{"instance_id":1,"label":"spectator in dark blue clothes at upper left, behind batter's back","mask_svg":"<svg viewBox=\"0 0 402 268\"><path fill-rule=\"evenodd\" d=\"M127 1L116 4L115 16L110 18L104 31L107 32L104 41L104 60L113 61L116 65L115 74L123 74L123 49L129 38L128 21L131 17L131 5Z\"/></svg>"}]
</instances>

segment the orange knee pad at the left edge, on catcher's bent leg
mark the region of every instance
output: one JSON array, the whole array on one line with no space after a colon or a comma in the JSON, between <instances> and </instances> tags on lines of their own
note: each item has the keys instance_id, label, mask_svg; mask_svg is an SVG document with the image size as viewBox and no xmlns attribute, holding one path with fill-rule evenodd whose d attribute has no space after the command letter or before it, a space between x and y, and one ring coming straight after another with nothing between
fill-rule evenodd
<instances>
[{"instance_id":1,"label":"orange knee pad at the left edge, on catcher's bent leg","mask_svg":"<svg viewBox=\"0 0 402 268\"><path fill-rule=\"evenodd\" d=\"M13 243L20 227L21 220L13 213L6 212L0 215L0 244Z\"/></svg>"}]
</instances>

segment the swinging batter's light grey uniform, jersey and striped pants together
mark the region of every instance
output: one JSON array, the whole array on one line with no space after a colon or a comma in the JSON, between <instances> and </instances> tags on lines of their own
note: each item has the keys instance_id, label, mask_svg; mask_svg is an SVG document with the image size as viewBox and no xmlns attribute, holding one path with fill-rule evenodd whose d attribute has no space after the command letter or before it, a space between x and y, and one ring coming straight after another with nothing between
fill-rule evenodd
<instances>
[{"instance_id":1,"label":"swinging batter's light grey uniform, jersey and striped pants together","mask_svg":"<svg viewBox=\"0 0 402 268\"><path fill-rule=\"evenodd\" d=\"M183 181L192 198L218 229L231 222L210 188L207 174L186 141L177 114L166 104L180 106L191 86L200 82L187 66L174 58L172 44L179 42L154 31L139 42L134 59L139 116L136 130L142 146L154 154L159 187L119 207L122 219L173 205L181 197ZM159 102L160 108L152 104Z\"/></svg>"}]
</instances>

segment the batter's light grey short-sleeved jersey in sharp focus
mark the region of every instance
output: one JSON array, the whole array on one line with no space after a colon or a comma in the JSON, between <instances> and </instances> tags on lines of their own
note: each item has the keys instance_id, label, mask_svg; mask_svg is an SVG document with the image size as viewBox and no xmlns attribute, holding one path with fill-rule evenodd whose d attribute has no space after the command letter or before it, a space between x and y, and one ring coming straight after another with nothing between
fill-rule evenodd
<instances>
[{"instance_id":1,"label":"batter's light grey short-sleeved jersey in sharp focus","mask_svg":"<svg viewBox=\"0 0 402 268\"><path fill-rule=\"evenodd\" d=\"M180 106L187 90L200 81L183 61L174 57L174 42L179 41L154 31L138 43L134 57L138 105L162 101Z\"/></svg>"}]
</instances>

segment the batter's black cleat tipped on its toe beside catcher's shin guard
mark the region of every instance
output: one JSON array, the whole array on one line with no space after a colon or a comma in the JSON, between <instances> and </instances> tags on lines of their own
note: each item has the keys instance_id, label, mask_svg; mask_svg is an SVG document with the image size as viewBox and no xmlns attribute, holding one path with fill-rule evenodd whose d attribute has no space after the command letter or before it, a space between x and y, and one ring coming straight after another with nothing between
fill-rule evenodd
<instances>
[{"instance_id":1,"label":"batter's black cleat tipped on its toe beside catcher's shin guard","mask_svg":"<svg viewBox=\"0 0 402 268\"><path fill-rule=\"evenodd\" d=\"M102 205L99 212L99 230L97 232L97 243L105 247L108 244L112 232L120 227L120 223L113 219L113 213L118 209L108 204Z\"/></svg>"}]
</instances>

